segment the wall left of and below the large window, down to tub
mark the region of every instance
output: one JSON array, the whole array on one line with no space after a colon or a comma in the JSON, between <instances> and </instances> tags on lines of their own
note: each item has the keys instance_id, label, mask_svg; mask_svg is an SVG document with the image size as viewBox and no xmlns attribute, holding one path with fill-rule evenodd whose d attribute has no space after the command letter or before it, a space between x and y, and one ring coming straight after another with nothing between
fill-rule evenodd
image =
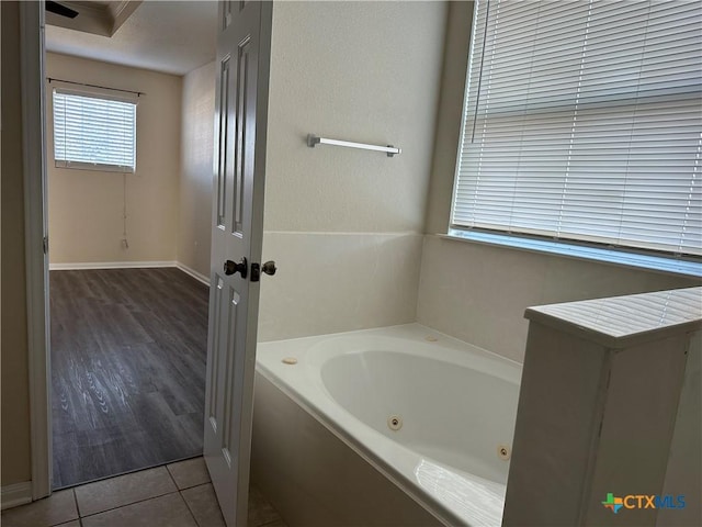
<instances>
[{"instance_id":1,"label":"wall left of and below the large window, down to tub","mask_svg":"<svg viewBox=\"0 0 702 527\"><path fill-rule=\"evenodd\" d=\"M451 2L417 321L523 361L530 305L697 285L699 280L442 239L449 226L472 2Z\"/></svg>"}]
</instances>

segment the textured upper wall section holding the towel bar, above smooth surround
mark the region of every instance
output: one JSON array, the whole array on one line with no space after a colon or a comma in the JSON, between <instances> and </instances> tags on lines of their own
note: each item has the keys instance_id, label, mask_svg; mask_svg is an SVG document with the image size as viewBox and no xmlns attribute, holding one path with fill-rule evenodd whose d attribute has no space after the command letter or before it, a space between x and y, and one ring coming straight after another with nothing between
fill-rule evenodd
<instances>
[{"instance_id":1,"label":"textured upper wall section holding the towel bar, above smooth surround","mask_svg":"<svg viewBox=\"0 0 702 527\"><path fill-rule=\"evenodd\" d=\"M267 231L422 231L444 25L443 2L275 4Z\"/></svg>"}]
</instances>

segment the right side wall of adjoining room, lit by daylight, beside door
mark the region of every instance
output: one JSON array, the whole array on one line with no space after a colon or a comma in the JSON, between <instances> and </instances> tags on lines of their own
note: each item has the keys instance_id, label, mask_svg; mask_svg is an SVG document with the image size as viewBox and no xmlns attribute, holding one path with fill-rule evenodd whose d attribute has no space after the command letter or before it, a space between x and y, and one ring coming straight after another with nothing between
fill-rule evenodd
<instances>
[{"instance_id":1,"label":"right side wall of adjoining room, lit by daylight, beside door","mask_svg":"<svg viewBox=\"0 0 702 527\"><path fill-rule=\"evenodd\" d=\"M215 63L183 77L178 261L210 277Z\"/></svg>"}]
</instances>

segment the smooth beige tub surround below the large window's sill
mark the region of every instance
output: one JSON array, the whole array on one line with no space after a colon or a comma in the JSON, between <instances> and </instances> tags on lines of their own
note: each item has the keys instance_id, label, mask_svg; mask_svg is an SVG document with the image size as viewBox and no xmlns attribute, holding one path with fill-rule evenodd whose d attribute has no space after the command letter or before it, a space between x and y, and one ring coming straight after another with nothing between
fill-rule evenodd
<instances>
[{"instance_id":1,"label":"smooth beige tub surround below the large window's sill","mask_svg":"<svg viewBox=\"0 0 702 527\"><path fill-rule=\"evenodd\" d=\"M530 305L692 285L700 280L427 235L417 322L522 362Z\"/></svg>"}]
</instances>

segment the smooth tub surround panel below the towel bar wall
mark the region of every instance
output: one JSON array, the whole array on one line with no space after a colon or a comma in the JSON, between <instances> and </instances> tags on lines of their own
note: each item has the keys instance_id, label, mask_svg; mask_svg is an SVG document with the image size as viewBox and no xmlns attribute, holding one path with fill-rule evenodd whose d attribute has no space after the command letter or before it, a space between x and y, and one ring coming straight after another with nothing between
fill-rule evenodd
<instances>
[{"instance_id":1,"label":"smooth tub surround panel below the towel bar wall","mask_svg":"<svg viewBox=\"0 0 702 527\"><path fill-rule=\"evenodd\" d=\"M422 235L265 232L259 341L415 322Z\"/></svg>"}]
</instances>

